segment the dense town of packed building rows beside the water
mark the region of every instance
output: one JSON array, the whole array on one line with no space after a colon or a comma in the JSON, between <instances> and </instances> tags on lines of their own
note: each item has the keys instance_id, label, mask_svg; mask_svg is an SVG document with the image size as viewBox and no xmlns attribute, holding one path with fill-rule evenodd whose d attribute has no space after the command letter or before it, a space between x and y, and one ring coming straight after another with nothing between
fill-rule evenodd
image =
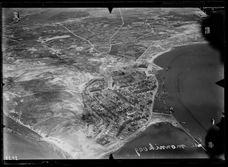
<instances>
[{"instance_id":1,"label":"dense town of packed building rows beside the water","mask_svg":"<svg viewBox=\"0 0 228 167\"><path fill-rule=\"evenodd\" d=\"M94 122L90 122L94 127L93 137L102 145L129 136L149 120L157 87L156 80L144 72L111 75L114 88L108 86L110 81L95 79L83 92L84 112L94 116Z\"/></svg>"}]
</instances>

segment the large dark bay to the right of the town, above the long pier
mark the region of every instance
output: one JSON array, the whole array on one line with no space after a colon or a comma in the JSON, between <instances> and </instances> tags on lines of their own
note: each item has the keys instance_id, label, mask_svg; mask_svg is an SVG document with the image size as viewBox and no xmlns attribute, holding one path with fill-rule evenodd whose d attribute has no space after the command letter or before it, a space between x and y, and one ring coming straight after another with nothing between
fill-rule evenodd
<instances>
[{"instance_id":1,"label":"large dark bay to the right of the town, above the long pier","mask_svg":"<svg viewBox=\"0 0 228 167\"><path fill-rule=\"evenodd\" d=\"M187 47L191 45L195 46ZM222 98L220 94L222 90L215 84L221 78L218 75L221 65L219 56L216 56L217 50L210 47L208 42L191 43L191 45L176 46L174 48L178 50L173 50L172 55L167 53L158 60L159 62L157 60L154 62L163 68L170 67L167 71L161 71L159 75L164 78L165 83L170 83L165 84L168 91L166 102L175 106L177 111L174 113L175 118L187 122L184 124L187 131L191 131L193 136L203 140L205 129L210 126L208 117L217 117L218 120L219 113L216 116L215 112L222 109L218 101ZM181 48L182 46L186 48ZM185 58L181 56L183 54L186 55ZM180 56L180 59L176 59L177 56ZM201 112L205 115L200 114Z\"/></svg>"}]
</instances>

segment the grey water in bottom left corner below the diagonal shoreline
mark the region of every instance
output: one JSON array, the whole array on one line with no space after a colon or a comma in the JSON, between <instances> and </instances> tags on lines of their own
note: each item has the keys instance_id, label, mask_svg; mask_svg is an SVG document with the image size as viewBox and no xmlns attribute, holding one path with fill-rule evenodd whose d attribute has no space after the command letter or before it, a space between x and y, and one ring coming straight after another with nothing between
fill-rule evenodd
<instances>
[{"instance_id":1,"label":"grey water in bottom left corner below the diagonal shoreline","mask_svg":"<svg viewBox=\"0 0 228 167\"><path fill-rule=\"evenodd\" d=\"M4 116L3 129L4 159L65 159L63 152L53 143L13 119ZM13 130L12 130L13 129Z\"/></svg>"}]
</instances>

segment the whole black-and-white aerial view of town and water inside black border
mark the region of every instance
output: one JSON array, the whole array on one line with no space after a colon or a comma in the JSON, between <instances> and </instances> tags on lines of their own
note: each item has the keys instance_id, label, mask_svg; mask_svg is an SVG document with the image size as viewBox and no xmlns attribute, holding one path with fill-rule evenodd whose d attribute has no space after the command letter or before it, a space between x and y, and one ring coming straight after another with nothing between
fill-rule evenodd
<instances>
[{"instance_id":1,"label":"whole black-and-white aerial view of town and water inside black border","mask_svg":"<svg viewBox=\"0 0 228 167\"><path fill-rule=\"evenodd\" d=\"M3 8L3 158L208 158L224 112L199 8Z\"/></svg>"}]
</instances>

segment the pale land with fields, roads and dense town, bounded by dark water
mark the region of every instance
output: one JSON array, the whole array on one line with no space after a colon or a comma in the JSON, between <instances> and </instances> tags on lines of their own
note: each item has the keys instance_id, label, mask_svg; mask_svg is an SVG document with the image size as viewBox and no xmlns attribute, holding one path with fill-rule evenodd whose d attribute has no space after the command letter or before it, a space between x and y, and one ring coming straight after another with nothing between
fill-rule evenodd
<instances>
[{"instance_id":1,"label":"pale land with fields, roads and dense town, bounded by dark water","mask_svg":"<svg viewBox=\"0 0 228 167\"><path fill-rule=\"evenodd\" d=\"M13 18L15 10L19 21ZM161 131L162 137L169 129L203 149L180 123L181 115L170 114L159 89L169 81L157 75L163 66L154 64L176 46L205 43L201 11L114 9L109 14L98 8L53 8L3 13L4 116L31 130L23 133L37 134L36 140L55 146L66 158L104 158L147 127L165 123L152 132ZM172 142L164 139L163 144Z\"/></svg>"}]
</instances>

